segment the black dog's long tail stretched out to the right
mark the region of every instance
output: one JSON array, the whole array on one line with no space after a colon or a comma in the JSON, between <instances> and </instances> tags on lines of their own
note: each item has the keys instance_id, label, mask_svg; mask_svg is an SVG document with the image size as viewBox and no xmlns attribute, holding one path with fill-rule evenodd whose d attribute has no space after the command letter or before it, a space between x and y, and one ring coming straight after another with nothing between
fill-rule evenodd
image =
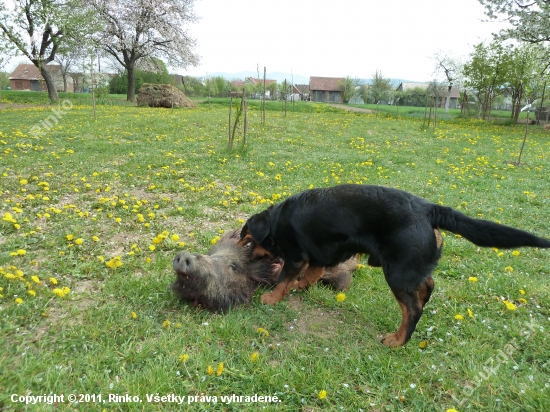
<instances>
[{"instance_id":1,"label":"black dog's long tail stretched out to the right","mask_svg":"<svg viewBox=\"0 0 550 412\"><path fill-rule=\"evenodd\" d=\"M459 234L478 246L503 249L521 246L550 248L547 239L488 220L472 219L450 207L431 204L428 217L434 227Z\"/></svg>"}]
</instances>

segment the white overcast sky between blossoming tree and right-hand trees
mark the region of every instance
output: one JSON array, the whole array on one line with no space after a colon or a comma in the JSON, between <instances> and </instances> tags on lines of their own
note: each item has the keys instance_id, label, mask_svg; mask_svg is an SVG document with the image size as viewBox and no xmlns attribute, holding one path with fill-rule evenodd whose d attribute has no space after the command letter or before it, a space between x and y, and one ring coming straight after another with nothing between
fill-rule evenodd
<instances>
[{"instance_id":1,"label":"white overcast sky between blossoming tree and right-hand trees","mask_svg":"<svg viewBox=\"0 0 550 412\"><path fill-rule=\"evenodd\" d=\"M201 65L179 73L243 70L304 76L433 79L441 50L467 56L502 24L478 0L197 0L190 27Z\"/></svg>"}]
</instances>

